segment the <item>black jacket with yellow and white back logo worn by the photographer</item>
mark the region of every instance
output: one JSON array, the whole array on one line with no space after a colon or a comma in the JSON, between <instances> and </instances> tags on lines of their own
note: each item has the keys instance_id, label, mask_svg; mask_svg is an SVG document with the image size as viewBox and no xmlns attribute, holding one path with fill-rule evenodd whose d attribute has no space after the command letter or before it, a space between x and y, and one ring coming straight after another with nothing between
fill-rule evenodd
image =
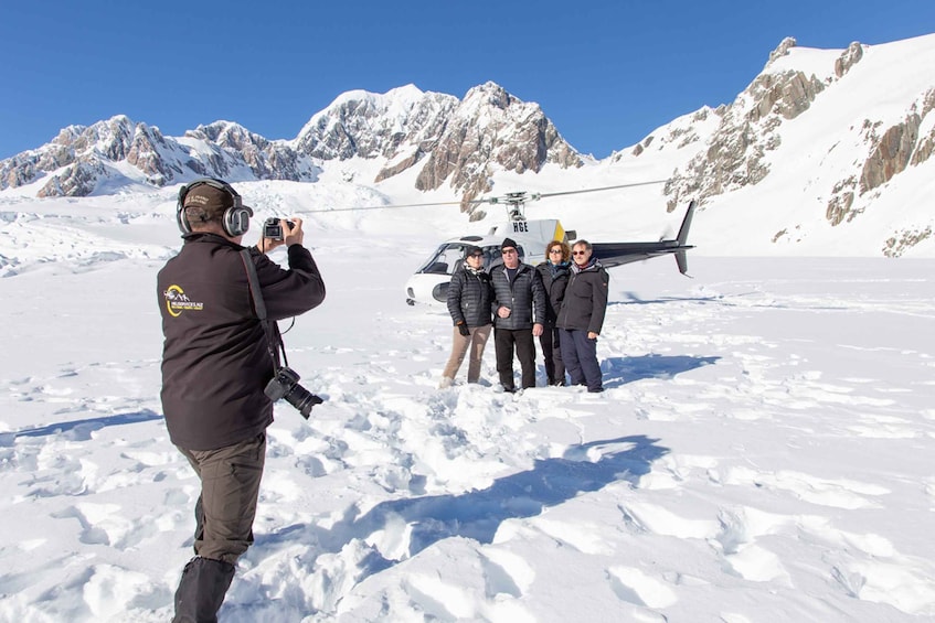
<instances>
[{"instance_id":1,"label":"black jacket with yellow and white back logo worn by the photographer","mask_svg":"<svg viewBox=\"0 0 935 623\"><path fill-rule=\"evenodd\" d=\"M157 278L162 411L172 443L188 450L251 439L273 421L273 402L263 393L273 363L253 309L243 248L214 234L188 234ZM251 253L270 321L325 299L318 267L301 245L288 248L289 270L255 248Z\"/></svg>"}]
</instances>

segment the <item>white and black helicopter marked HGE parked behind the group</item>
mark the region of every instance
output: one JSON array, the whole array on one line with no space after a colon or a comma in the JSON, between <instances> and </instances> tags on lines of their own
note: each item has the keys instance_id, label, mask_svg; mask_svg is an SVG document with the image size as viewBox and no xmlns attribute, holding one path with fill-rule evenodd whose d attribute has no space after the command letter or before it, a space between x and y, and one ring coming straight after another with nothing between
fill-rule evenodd
<instances>
[{"instance_id":1,"label":"white and black helicopter marked HGE parked behind the group","mask_svg":"<svg viewBox=\"0 0 935 623\"><path fill-rule=\"evenodd\" d=\"M551 240L562 240L572 244L577 239L577 233L573 229L565 229L557 219L527 221L523 210L527 201L634 185L642 184L621 184L557 193L530 194L524 191L517 191L507 193L502 197L477 200L484 203L506 204L508 212L507 222L495 225L484 236L461 236L442 243L406 283L406 303L410 305L415 305L416 303L446 303L451 275L461 265L468 246L481 248L484 251L484 266L489 270L501 261L500 245L506 237L516 240L520 261L532 264L533 266L544 261L545 246ZM681 227L679 228L679 234L674 238L647 243L592 243L594 256L601 260L601 264L605 268L613 268L615 266L623 266L634 261L672 254L676 257L679 272L687 275L688 259L686 251L694 248L693 245L688 244L688 233L689 227L691 227L692 216L694 215L694 201L689 203Z\"/></svg>"}]
</instances>

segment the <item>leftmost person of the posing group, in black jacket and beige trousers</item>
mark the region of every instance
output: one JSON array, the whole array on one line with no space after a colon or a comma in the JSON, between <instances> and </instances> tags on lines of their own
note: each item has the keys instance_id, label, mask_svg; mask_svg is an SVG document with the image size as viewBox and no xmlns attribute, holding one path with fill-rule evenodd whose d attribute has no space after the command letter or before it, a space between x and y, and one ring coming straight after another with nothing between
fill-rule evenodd
<instances>
[{"instance_id":1,"label":"leftmost person of the posing group, in black jacket and beige trousers","mask_svg":"<svg viewBox=\"0 0 935 623\"><path fill-rule=\"evenodd\" d=\"M493 290L490 276L484 270L484 251L469 246L465 250L465 262L451 276L448 286L448 313L455 323L451 356L442 373L440 389L450 387L461 367L468 348L468 383L480 379L480 359L490 337Z\"/></svg>"}]
</instances>

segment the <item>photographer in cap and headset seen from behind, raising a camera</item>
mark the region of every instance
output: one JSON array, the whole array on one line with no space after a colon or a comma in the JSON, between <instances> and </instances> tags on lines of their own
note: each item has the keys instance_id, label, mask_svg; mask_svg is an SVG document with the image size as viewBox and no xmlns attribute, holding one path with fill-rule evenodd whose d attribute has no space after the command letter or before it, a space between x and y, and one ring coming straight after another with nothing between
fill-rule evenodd
<instances>
[{"instance_id":1,"label":"photographer in cap and headset seen from behind, raising a camera","mask_svg":"<svg viewBox=\"0 0 935 623\"><path fill-rule=\"evenodd\" d=\"M176 592L173 621L216 621L234 565L253 543L266 454L276 344L257 316L241 240L253 210L227 183L201 179L179 193L184 240L159 271L162 410L169 437L201 480L194 552ZM269 321L301 314L325 299L325 283L302 247L302 222L281 221L283 239L249 249ZM289 269L264 255L287 245ZM275 324L273 325L275 327ZM277 341L278 333L270 332Z\"/></svg>"}]
</instances>

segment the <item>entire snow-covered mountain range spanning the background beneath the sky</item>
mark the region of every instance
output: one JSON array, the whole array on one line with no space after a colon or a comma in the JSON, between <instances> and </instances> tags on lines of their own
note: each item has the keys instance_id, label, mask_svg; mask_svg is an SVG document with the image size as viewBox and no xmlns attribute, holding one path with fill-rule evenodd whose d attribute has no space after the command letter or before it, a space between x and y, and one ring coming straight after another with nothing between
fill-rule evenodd
<instances>
[{"instance_id":1,"label":"entire snow-covered mountain range spanning the background beneath the sky","mask_svg":"<svg viewBox=\"0 0 935 623\"><path fill-rule=\"evenodd\" d=\"M480 218L470 201L503 180L553 191L662 180L654 201L671 212L698 200L702 219L716 225L709 238L731 253L926 255L935 253L933 66L935 35L847 50L786 39L732 103L679 117L599 161L569 144L538 104L493 83L464 99L413 85L349 92L290 140L231 121L167 137L116 116L0 161L0 195L152 192L202 175L352 179L386 203L439 191ZM353 174L337 173L349 162Z\"/></svg>"}]
</instances>

